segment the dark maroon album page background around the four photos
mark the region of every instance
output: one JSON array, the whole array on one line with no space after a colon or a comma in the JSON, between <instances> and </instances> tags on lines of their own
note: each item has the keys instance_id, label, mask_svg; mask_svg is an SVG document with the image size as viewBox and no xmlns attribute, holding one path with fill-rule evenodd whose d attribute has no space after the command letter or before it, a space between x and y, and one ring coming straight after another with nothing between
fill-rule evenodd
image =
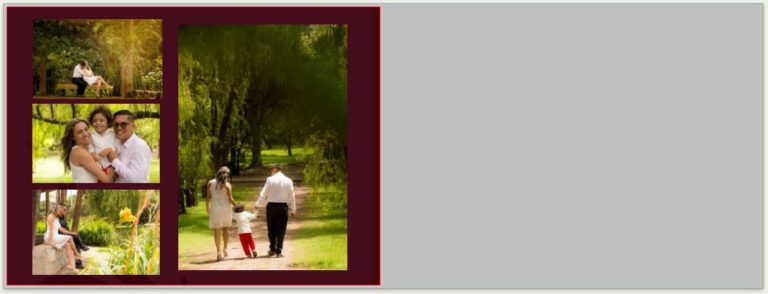
<instances>
[{"instance_id":1,"label":"dark maroon album page background around the four photos","mask_svg":"<svg viewBox=\"0 0 768 294\"><path fill-rule=\"evenodd\" d=\"M98 16L98 17L95 17ZM349 26L349 226L346 271L179 271L178 155L164 152L160 184L32 184L32 21L157 18L163 20L160 140L178 146L177 63L181 24L347 24ZM21 7L6 8L6 270L8 286L45 285L380 285L380 9L379 7ZM8 74L13 73L13 74ZM98 103L93 99L46 103ZM133 103L139 101L120 101ZM145 100L141 102L146 102ZM8 122L11 122L9 125ZM9 140L12 139L12 140ZM169 146L171 146L169 148ZM8 171L13 172L9 173ZM33 276L31 191L160 189L158 276ZM16 209L19 208L19 209Z\"/></svg>"}]
</instances>

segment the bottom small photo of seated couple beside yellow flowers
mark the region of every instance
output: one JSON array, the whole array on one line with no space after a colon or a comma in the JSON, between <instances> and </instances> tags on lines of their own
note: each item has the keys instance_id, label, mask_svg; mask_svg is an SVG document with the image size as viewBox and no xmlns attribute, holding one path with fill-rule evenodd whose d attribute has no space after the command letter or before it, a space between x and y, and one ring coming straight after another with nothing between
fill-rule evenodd
<instances>
[{"instance_id":1,"label":"bottom small photo of seated couple beside yellow flowers","mask_svg":"<svg viewBox=\"0 0 768 294\"><path fill-rule=\"evenodd\" d=\"M159 275L159 190L33 190L33 275Z\"/></svg>"}]
</instances>

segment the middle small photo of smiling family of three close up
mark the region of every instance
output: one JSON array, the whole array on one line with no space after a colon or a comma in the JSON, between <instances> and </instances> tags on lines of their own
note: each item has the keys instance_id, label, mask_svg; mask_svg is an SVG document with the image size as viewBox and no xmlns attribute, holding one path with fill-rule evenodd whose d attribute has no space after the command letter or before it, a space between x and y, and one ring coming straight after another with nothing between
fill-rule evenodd
<instances>
[{"instance_id":1,"label":"middle small photo of smiling family of three close up","mask_svg":"<svg viewBox=\"0 0 768 294\"><path fill-rule=\"evenodd\" d=\"M33 104L33 183L159 183L158 104Z\"/></svg>"}]
</instances>

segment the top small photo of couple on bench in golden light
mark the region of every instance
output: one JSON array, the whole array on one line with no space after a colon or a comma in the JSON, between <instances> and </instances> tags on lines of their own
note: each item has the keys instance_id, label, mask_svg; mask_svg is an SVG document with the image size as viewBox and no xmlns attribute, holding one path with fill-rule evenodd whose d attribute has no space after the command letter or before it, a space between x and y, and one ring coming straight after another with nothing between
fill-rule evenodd
<instances>
[{"instance_id":1,"label":"top small photo of couple on bench in golden light","mask_svg":"<svg viewBox=\"0 0 768 294\"><path fill-rule=\"evenodd\" d=\"M161 98L161 20L40 19L32 30L34 98Z\"/></svg>"}]
</instances>

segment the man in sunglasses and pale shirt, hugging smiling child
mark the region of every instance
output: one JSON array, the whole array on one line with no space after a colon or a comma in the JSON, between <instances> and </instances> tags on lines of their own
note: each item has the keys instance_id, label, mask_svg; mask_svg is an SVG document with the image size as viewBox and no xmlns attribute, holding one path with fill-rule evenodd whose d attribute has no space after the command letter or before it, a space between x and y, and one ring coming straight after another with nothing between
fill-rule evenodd
<instances>
[{"instance_id":1,"label":"man in sunglasses and pale shirt, hugging smiling child","mask_svg":"<svg viewBox=\"0 0 768 294\"><path fill-rule=\"evenodd\" d=\"M133 113L128 110L115 112L115 137L122 146L120 152L108 155L117 179L115 183L149 183L149 166L152 150L147 142L136 136Z\"/></svg>"}]
</instances>

